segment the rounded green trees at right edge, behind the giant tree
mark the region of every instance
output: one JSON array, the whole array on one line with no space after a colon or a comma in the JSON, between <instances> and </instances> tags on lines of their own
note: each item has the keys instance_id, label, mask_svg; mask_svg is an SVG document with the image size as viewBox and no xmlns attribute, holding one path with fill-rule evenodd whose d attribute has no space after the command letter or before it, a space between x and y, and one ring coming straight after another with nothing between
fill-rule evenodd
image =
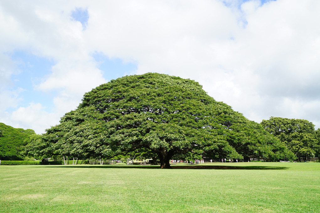
<instances>
[{"instance_id":1,"label":"rounded green trees at right edge, behind the giant tree","mask_svg":"<svg viewBox=\"0 0 320 213\"><path fill-rule=\"evenodd\" d=\"M314 157L319 152L319 129L303 119L271 117L260 123L268 132L279 138L300 160Z\"/></svg>"}]
</instances>

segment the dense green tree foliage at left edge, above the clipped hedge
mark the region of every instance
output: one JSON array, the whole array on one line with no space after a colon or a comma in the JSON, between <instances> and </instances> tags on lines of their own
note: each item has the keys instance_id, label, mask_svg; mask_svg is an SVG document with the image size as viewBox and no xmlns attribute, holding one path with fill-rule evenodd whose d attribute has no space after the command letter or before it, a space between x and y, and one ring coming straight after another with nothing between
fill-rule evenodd
<instances>
[{"instance_id":1,"label":"dense green tree foliage at left edge, above the clipped hedge","mask_svg":"<svg viewBox=\"0 0 320 213\"><path fill-rule=\"evenodd\" d=\"M20 129L0 123L0 160L23 160L21 151L30 135L35 135L32 129Z\"/></svg>"}]
</instances>

